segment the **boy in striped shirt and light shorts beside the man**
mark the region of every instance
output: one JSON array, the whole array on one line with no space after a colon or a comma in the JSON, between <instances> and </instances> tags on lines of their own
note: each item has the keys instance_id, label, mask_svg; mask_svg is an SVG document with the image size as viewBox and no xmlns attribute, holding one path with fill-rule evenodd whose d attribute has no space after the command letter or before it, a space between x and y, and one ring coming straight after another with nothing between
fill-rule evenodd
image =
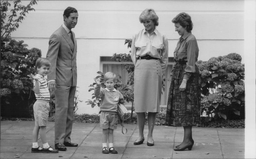
<instances>
[{"instance_id":1,"label":"boy in striped shirt and light shorts beside the man","mask_svg":"<svg viewBox=\"0 0 256 159\"><path fill-rule=\"evenodd\" d=\"M51 63L47 58L40 57L36 60L36 76L31 74L34 83L34 92L36 95L36 102L33 105L35 127L33 130L33 145L31 148L32 153L58 153L59 150L55 150L49 146L46 138L46 124L50 111L50 92L47 87L47 80L45 76L49 73ZM40 129L40 132L39 132ZM43 148L38 146L38 133L43 143Z\"/></svg>"}]
</instances>

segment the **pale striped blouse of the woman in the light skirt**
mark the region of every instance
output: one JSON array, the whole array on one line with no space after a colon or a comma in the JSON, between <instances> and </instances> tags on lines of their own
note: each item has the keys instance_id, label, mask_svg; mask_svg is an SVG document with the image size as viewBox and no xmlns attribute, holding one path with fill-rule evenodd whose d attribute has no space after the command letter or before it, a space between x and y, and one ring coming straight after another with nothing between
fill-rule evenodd
<instances>
[{"instance_id":1,"label":"pale striped blouse of the woman in the light skirt","mask_svg":"<svg viewBox=\"0 0 256 159\"><path fill-rule=\"evenodd\" d=\"M168 63L168 40L155 30L149 34L146 29L142 29L132 37L131 58L135 65L137 57L149 55L160 59L163 74Z\"/></svg>"}]
</instances>

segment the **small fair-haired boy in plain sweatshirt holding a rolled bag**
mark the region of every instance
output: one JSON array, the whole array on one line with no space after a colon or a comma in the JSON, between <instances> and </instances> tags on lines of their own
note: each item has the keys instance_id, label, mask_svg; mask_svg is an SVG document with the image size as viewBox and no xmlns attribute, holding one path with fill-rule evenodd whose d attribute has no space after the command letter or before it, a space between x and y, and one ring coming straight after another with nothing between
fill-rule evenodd
<instances>
[{"instance_id":1,"label":"small fair-haired boy in plain sweatshirt holding a rolled bag","mask_svg":"<svg viewBox=\"0 0 256 159\"><path fill-rule=\"evenodd\" d=\"M102 128L102 153L117 154L113 144L113 132L117 128L118 115L117 104L124 104L123 95L114 88L116 82L116 74L113 72L105 73L103 80L106 88L100 87L100 79L94 79L96 87L94 88L94 95L101 98L100 102L100 128ZM109 151L107 148L107 140L109 143Z\"/></svg>"}]
</instances>

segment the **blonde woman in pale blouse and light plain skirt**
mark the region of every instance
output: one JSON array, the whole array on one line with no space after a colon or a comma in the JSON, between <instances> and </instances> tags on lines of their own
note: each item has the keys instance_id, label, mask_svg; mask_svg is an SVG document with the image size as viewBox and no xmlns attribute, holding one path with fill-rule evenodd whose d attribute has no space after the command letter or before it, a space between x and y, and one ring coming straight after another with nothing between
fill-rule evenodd
<instances>
[{"instance_id":1,"label":"blonde woman in pale blouse and light plain skirt","mask_svg":"<svg viewBox=\"0 0 256 159\"><path fill-rule=\"evenodd\" d=\"M134 68L134 103L139 137L134 145L144 141L145 113L148 112L147 145L153 146L153 129L162 92L162 74L168 63L168 41L156 26L158 16L153 9L144 10L139 17L144 29L132 38L131 57Z\"/></svg>"}]
</instances>

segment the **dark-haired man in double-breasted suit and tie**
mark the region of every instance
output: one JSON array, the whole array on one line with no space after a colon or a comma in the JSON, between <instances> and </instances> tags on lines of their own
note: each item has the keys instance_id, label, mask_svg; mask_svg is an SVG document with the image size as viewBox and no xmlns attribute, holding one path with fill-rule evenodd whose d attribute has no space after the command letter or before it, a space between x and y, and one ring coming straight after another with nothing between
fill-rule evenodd
<instances>
[{"instance_id":1,"label":"dark-haired man in double-breasted suit and tie","mask_svg":"<svg viewBox=\"0 0 256 159\"><path fill-rule=\"evenodd\" d=\"M65 9L64 24L50 37L46 57L51 62L48 88L55 91L55 149L66 151L77 147L70 142L76 93L76 40L71 31L76 26L78 13L73 7Z\"/></svg>"}]
</instances>

